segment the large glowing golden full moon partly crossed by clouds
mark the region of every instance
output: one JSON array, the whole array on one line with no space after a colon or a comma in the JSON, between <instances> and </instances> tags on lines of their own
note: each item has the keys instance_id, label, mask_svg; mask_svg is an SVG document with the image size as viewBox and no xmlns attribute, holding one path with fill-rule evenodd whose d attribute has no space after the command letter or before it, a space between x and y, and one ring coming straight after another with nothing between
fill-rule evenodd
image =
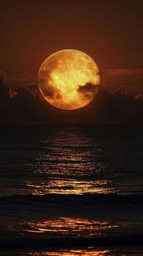
<instances>
[{"instance_id":1,"label":"large glowing golden full moon partly crossed by clouds","mask_svg":"<svg viewBox=\"0 0 143 256\"><path fill-rule=\"evenodd\" d=\"M76 110L88 105L100 83L98 67L81 50L65 49L53 53L38 73L39 91L55 108Z\"/></svg>"}]
</instances>

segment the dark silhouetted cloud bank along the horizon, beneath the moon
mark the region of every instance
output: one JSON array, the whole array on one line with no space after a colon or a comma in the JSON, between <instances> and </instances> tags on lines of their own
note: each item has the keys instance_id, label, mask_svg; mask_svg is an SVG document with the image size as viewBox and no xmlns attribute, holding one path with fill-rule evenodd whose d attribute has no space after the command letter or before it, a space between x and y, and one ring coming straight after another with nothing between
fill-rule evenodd
<instances>
[{"instance_id":1,"label":"dark silhouetted cloud bank along the horizon, beneath the moon","mask_svg":"<svg viewBox=\"0 0 143 256\"><path fill-rule=\"evenodd\" d=\"M100 87L95 99L86 108L67 111L58 110L45 99L33 97L27 89L8 89L6 75L0 72L0 123L1 124L143 124L142 94L130 97L128 91L115 90L112 93ZM88 83L79 86L80 92L93 91ZM49 94L49 92L47 92Z\"/></svg>"}]
</instances>

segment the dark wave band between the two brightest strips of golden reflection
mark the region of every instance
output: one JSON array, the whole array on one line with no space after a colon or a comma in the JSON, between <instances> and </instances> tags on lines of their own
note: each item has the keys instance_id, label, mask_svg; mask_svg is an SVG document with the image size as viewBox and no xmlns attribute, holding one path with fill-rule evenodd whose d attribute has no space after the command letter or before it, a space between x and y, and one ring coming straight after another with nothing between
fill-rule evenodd
<instances>
[{"instance_id":1,"label":"dark wave band between the two brightest strips of golden reflection","mask_svg":"<svg viewBox=\"0 0 143 256\"><path fill-rule=\"evenodd\" d=\"M106 206L129 206L136 205L143 207L143 195L118 195L118 194L85 194L85 195L11 195L0 197L1 208L4 206L11 208L12 206L31 206L48 208L49 206L66 206L71 208L90 207L98 208Z\"/></svg>"}]
</instances>

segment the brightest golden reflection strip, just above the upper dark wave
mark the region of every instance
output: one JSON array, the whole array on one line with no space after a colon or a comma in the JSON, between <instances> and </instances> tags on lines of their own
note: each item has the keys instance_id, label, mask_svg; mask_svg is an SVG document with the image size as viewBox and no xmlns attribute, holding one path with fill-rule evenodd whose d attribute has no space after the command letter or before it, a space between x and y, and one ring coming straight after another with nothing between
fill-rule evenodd
<instances>
[{"instance_id":1,"label":"brightest golden reflection strip, just above the upper dark wave","mask_svg":"<svg viewBox=\"0 0 143 256\"><path fill-rule=\"evenodd\" d=\"M109 181L78 181L76 179L53 178L53 180L27 181L26 186L31 190L32 195L46 194L74 194L83 195L85 193L103 193L109 194L113 192L112 188L106 187Z\"/></svg>"}]
</instances>

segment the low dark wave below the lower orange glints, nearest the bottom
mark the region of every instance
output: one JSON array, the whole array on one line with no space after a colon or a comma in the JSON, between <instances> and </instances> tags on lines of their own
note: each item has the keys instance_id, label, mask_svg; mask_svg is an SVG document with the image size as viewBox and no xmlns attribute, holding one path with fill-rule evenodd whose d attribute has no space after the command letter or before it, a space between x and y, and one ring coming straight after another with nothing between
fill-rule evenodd
<instances>
[{"instance_id":1,"label":"low dark wave below the lower orange glints, nearest the bottom","mask_svg":"<svg viewBox=\"0 0 143 256\"><path fill-rule=\"evenodd\" d=\"M80 246L118 246L118 245L142 245L143 235L134 234L128 236L108 236L96 238L20 238L12 240L0 240L0 249L18 248L43 248L43 247L80 247Z\"/></svg>"}]
</instances>

